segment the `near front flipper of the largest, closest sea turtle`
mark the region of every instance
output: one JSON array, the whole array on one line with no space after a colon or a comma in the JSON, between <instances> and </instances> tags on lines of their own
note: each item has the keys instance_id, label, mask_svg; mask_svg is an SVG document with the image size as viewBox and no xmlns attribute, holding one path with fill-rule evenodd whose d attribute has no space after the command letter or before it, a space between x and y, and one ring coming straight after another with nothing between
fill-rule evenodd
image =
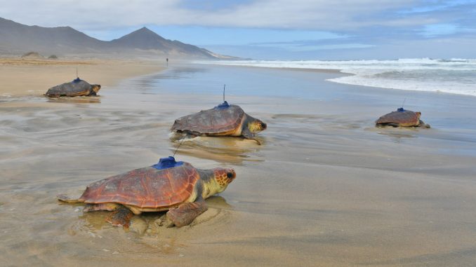
<instances>
[{"instance_id":1,"label":"near front flipper of the largest, closest sea turtle","mask_svg":"<svg viewBox=\"0 0 476 267\"><path fill-rule=\"evenodd\" d=\"M205 200L200 197L193 203L184 203L175 209L168 210L167 218L173 222L170 226L182 227L191 224L195 218L208 209Z\"/></svg>"}]
</instances>

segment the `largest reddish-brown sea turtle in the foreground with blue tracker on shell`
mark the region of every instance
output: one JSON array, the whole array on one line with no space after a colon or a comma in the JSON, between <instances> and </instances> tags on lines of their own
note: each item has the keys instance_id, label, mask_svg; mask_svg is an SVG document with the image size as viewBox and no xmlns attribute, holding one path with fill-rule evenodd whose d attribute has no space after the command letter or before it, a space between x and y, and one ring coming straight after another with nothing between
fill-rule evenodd
<instances>
[{"instance_id":1,"label":"largest reddish-brown sea turtle in the foreground with blue tracker on shell","mask_svg":"<svg viewBox=\"0 0 476 267\"><path fill-rule=\"evenodd\" d=\"M205 198L223 192L236 177L233 169L200 170L175 158L161 158L150 167L115 175L86 187L77 199L59 195L65 203L86 203L84 212L114 211L114 226L129 226L133 214L166 211L169 226L190 224L208 208Z\"/></svg>"}]
</instances>

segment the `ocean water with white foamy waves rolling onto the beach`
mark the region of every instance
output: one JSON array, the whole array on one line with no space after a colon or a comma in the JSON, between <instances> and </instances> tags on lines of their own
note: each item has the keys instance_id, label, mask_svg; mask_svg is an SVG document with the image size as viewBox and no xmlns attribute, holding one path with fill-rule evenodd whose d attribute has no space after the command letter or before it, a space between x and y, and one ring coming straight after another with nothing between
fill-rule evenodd
<instances>
[{"instance_id":1,"label":"ocean water with white foamy waves rolling onto the beach","mask_svg":"<svg viewBox=\"0 0 476 267\"><path fill-rule=\"evenodd\" d=\"M476 96L476 60L430 58L348 61L242 60L220 61L212 64L268 68L336 69L342 73L352 75L330 78L328 81L377 88Z\"/></svg>"}]
</instances>

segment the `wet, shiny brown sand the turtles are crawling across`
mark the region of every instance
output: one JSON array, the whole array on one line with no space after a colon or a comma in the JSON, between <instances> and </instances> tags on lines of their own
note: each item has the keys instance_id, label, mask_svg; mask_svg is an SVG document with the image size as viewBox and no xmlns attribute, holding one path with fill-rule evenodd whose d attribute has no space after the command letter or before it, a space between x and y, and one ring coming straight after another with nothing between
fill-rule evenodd
<instances>
[{"instance_id":1,"label":"wet, shiny brown sand the turtles are crawling across","mask_svg":"<svg viewBox=\"0 0 476 267\"><path fill-rule=\"evenodd\" d=\"M173 66L100 97L0 99L4 266L475 266L474 97L324 81L335 73ZM187 140L176 158L233 167L191 226L131 231L58 193L157 163L173 120L227 101L268 125L263 145ZM407 97L431 129L376 129ZM397 104L395 104L397 103ZM139 233L137 233L139 232Z\"/></svg>"}]
</instances>

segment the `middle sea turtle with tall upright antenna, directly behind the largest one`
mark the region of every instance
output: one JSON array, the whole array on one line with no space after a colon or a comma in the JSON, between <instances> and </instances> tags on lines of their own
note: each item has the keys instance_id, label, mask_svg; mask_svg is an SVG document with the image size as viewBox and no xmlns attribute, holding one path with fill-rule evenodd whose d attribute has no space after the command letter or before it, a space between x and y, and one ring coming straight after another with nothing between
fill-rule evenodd
<instances>
[{"instance_id":1,"label":"middle sea turtle with tall upright antenna, directly behind the largest one","mask_svg":"<svg viewBox=\"0 0 476 267\"><path fill-rule=\"evenodd\" d=\"M176 119L171 130L190 135L242 136L255 139L255 134L266 129L266 123L246 114L243 109L226 101L213 109L202 110Z\"/></svg>"}]
</instances>

